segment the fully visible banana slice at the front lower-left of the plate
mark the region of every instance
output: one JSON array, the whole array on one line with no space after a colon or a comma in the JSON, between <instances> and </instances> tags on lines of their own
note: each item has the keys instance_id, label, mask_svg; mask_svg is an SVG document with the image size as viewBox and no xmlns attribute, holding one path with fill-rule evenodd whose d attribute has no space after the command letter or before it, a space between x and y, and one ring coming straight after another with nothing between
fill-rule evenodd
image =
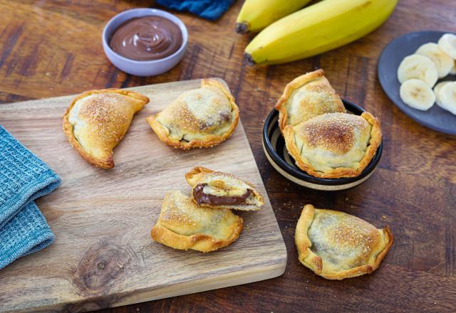
<instances>
[{"instance_id":1,"label":"fully visible banana slice at the front lower-left of the plate","mask_svg":"<svg viewBox=\"0 0 456 313\"><path fill-rule=\"evenodd\" d=\"M417 110L429 110L435 102L435 95L423 80L411 79L400 85L400 99Z\"/></svg>"}]
</instances>

